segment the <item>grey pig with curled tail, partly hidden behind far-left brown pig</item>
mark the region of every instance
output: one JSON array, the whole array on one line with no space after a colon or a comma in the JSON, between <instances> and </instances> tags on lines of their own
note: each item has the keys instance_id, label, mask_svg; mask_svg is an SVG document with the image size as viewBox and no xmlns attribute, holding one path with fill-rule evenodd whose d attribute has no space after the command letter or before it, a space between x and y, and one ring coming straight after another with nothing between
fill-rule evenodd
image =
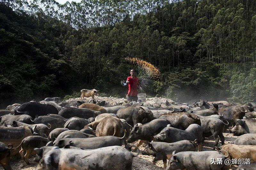
<instances>
[{"instance_id":1,"label":"grey pig with curled tail, partly hidden behind far-left brown pig","mask_svg":"<svg viewBox=\"0 0 256 170\"><path fill-rule=\"evenodd\" d=\"M45 124L42 124L42 123L30 125L30 124L19 122L19 121L13 121L12 127L20 127L20 126L29 126L31 129L33 129L33 135L39 135L41 137L48 136L49 129L51 129L50 123L48 123L48 125L46 126Z\"/></svg>"}]
</instances>

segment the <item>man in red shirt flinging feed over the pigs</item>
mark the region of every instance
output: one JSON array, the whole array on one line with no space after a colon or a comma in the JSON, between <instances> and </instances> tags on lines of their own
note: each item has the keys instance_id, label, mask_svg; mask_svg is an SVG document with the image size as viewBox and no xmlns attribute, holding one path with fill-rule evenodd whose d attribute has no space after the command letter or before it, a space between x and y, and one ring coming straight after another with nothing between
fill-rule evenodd
<instances>
[{"instance_id":1,"label":"man in red shirt flinging feed over the pigs","mask_svg":"<svg viewBox=\"0 0 256 170\"><path fill-rule=\"evenodd\" d=\"M130 101L138 101L138 88L141 89L139 85L139 79L135 76L135 70L131 70L131 76L127 78L126 83L128 84L128 93L127 93L127 100Z\"/></svg>"}]
</instances>

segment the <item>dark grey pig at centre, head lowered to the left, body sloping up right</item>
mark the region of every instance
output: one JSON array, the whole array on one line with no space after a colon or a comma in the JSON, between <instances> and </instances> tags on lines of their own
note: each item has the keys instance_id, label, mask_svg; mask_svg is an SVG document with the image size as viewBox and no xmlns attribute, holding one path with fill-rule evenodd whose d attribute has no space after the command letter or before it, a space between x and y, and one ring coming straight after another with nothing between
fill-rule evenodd
<instances>
[{"instance_id":1,"label":"dark grey pig at centre, head lowered to the left, body sloping up right","mask_svg":"<svg viewBox=\"0 0 256 170\"><path fill-rule=\"evenodd\" d=\"M157 135L162 129L164 129L170 122L166 119L154 119L143 125L136 124L128 137L127 142L132 143L139 140L137 147L143 144L145 141L153 140L154 135Z\"/></svg>"}]
</instances>

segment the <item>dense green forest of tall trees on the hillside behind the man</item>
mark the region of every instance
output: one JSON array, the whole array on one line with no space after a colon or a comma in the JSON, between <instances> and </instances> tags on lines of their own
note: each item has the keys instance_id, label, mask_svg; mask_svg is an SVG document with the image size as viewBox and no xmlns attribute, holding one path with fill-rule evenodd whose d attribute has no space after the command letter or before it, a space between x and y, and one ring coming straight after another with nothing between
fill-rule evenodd
<instances>
[{"instance_id":1,"label":"dense green forest of tall trees on the hillside behind the man","mask_svg":"<svg viewBox=\"0 0 256 170\"><path fill-rule=\"evenodd\" d=\"M239 104L256 97L255 0L1 0L0 44L1 106L79 97L84 88L123 98L120 80L132 68L148 96Z\"/></svg>"}]
</instances>

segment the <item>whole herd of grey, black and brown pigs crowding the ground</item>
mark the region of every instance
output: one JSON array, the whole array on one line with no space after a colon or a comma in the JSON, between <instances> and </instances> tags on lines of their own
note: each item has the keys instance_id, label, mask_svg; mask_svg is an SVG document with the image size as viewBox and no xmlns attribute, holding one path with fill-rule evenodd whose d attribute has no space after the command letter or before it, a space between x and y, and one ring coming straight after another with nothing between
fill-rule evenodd
<instances>
[{"instance_id":1,"label":"whole herd of grey, black and brown pigs crowding the ground","mask_svg":"<svg viewBox=\"0 0 256 170\"><path fill-rule=\"evenodd\" d=\"M256 103L201 100L190 105L156 98L154 104L126 101L113 106L54 97L9 105L0 116L0 163L7 170L10 157L30 164L31 155L37 170L128 170L139 154L152 155L154 164L163 161L167 170L228 170L226 159L247 159L250 165L237 169L256 169ZM225 144L226 130L239 137ZM202 151L210 136L215 140L212 151Z\"/></svg>"}]
</instances>

